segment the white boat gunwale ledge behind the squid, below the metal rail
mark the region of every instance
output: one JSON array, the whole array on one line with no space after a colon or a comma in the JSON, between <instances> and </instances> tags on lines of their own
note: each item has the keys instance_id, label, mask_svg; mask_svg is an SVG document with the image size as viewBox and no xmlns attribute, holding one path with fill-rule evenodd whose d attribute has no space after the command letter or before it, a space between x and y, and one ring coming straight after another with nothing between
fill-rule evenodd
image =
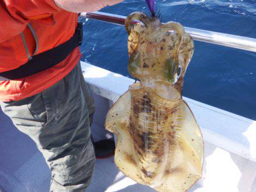
<instances>
[{"instance_id":1,"label":"white boat gunwale ledge behind the squid, below the metal rail","mask_svg":"<svg viewBox=\"0 0 256 192\"><path fill-rule=\"evenodd\" d=\"M134 80L82 62L85 81L93 93L111 103L129 89ZM256 162L256 122L220 108L183 97L201 128L204 140L226 151Z\"/></svg>"}]
</instances>

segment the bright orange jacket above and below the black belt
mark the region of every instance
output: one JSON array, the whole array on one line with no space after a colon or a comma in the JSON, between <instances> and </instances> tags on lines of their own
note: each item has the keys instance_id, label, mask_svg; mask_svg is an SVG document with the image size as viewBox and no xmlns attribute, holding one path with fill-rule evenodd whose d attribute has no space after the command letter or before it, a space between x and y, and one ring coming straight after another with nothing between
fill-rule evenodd
<instances>
[{"instance_id":1,"label":"bright orange jacket above and below the black belt","mask_svg":"<svg viewBox=\"0 0 256 192\"><path fill-rule=\"evenodd\" d=\"M30 56L71 39L77 17L76 13L61 10L52 0L0 0L0 73L18 68ZM0 81L0 101L18 101L42 92L67 76L80 57L77 47L52 68L26 78Z\"/></svg>"}]
</instances>

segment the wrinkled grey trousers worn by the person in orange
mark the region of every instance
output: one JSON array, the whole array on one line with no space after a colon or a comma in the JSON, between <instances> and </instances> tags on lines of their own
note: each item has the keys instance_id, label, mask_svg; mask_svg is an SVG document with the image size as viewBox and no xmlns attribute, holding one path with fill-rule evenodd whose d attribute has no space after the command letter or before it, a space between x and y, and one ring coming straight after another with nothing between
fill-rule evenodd
<instances>
[{"instance_id":1,"label":"wrinkled grey trousers worn by the person in orange","mask_svg":"<svg viewBox=\"0 0 256 192\"><path fill-rule=\"evenodd\" d=\"M42 93L0 106L46 158L50 191L85 191L95 165L89 128L94 104L80 64Z\"/></svg>"}]
</instances>

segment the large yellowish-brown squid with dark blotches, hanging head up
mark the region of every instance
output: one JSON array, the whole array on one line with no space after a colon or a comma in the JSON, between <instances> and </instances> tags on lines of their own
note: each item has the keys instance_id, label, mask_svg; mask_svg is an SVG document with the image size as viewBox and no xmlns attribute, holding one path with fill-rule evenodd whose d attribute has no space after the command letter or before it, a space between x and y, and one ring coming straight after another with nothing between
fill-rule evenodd
<instances>
[{"instance_id":1,"label":"large yellowish-brown squid with dark blotches, hanging head up","mask_svg":"<svg viewBox=\"0 0 256 192\"><path fill-rule=\"evenodd\" d=\"M142 12L127 16L125 27L128 70L139 82L106 116L106 130L117 135L115 165L156 191L187 191L202 176L204 153L200 128L182 98L193 40L181 24Z\"/></svg>"}]
</instances>

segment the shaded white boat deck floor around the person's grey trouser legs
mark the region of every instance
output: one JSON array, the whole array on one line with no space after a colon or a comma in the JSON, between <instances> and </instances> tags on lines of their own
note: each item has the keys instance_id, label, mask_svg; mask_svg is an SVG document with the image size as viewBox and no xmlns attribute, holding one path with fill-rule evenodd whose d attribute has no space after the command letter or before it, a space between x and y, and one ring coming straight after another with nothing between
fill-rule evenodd
<instances>
[{"instance_id":1,"label":"shaded white boat deck floor around the person's grey trouser legs","mask_svg":"<svg viewBox=\"0 0 256 192\"><path fill-rule=\"evenodd\" d=\"M0 191L46 192L49 190L51 172L34 141L19 132L11 120L0 110ZM95 140L110 138L112 135L102 127L93 124ZM189 191L197 191L200 185ZM114 164L114 158L96 161L93 181L88 192L153 192L148 186L140 185L122 174Z\"/></svg>"}]
</instances>

